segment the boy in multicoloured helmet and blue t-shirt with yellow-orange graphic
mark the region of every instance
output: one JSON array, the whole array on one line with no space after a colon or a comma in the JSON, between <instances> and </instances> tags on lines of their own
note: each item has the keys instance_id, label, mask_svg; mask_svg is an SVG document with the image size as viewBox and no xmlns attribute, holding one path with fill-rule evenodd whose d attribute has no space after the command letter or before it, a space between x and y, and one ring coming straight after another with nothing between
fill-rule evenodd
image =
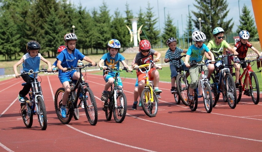
<instances>
[{"instance_id":1,"label":"boy in multicoloured helmet and blue t-shirt with yellow-orange graphic","mask_svg":"<svg viewBox=\"0 0 262 152\"><path fill-rule=\"evenodd\" d=\"M105 73L105 70L107 67L109 68L116 68L116 70L119 70L120 62L123 64L124 67L128 68L129 71L132 71L132 68L129 68L129 66L125 63L125 57L123 57L120 53L119 50L121 48L121 44L117 39L112 39L108 42L107 44L107 50L109 51L108 53L105 53L100 61L98 62L99 68L102 67L103 69L103 77L105 79L105 88L104 91L102 92L101 100L105 101L105 105L107 104L107 99L108 96L110 95L110 91L108 89L110 86L114 83L115 79L115 73L116 72L108 72ZM104 63L104 65L102 65ZM122 80L121 78L118 78L118 86L120 88L123 88Z\"/></svg>"}]
</instances>

